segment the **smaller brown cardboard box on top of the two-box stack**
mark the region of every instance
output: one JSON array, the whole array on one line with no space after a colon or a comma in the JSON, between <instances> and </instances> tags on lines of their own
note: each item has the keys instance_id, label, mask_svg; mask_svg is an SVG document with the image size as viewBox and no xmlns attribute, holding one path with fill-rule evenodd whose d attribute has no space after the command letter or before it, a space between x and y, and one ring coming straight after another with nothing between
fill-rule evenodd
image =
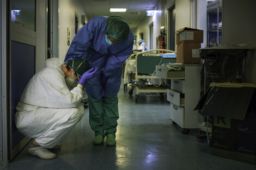
<instances>
[{"instance_id":1,"label":"smaller brown cardboard box on top of the two-box stack","mask_svg":"<svg viewBox=\"0 0 256 170\"><path fill-rule=\"evenodd\" d=\"M203 41L203 30L187 27L176 30L176 45L180 43L202 43Z\"/></svg>"}]
</instances>

